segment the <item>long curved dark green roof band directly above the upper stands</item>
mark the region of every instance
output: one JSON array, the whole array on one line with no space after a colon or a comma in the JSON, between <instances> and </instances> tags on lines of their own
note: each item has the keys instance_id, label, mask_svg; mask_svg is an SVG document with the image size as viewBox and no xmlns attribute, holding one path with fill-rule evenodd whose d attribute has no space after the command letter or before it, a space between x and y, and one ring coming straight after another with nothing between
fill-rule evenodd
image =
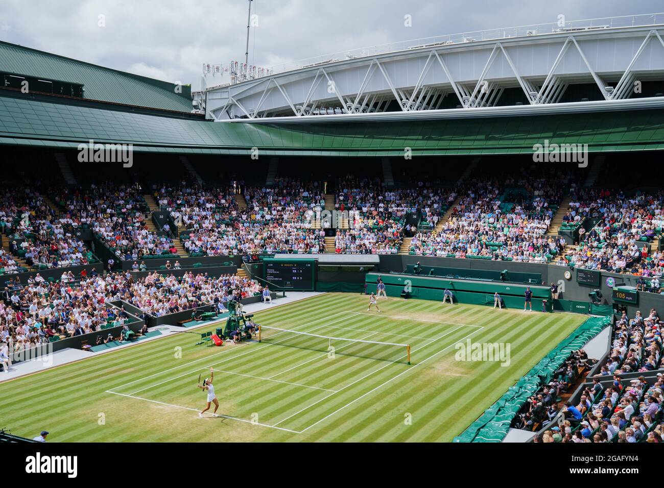
<instances>
[{"instance_id":1,"label":"long curved dark green roof band directly above the upper stands","mask_svg":"<svg viewBox=\"0 0 664 488\"><path fill-rule=\"evenodd\" d=\"M5 95L5 96L3 96ZM664 149L664 110L373 123L223 123L80 106L0 90L0 144L76 149L132 143L135 151L245 155L398 156L532 153L544 143L588 150Z\"/></svg>"}]
</instances>

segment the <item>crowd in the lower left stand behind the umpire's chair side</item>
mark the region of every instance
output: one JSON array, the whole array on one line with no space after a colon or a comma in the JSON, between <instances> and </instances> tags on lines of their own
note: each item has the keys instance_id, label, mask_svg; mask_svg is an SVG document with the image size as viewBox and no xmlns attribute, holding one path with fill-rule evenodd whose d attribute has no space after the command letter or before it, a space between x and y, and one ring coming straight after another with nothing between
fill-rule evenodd
<instances>
[{"instance_id":1,"label":"crowd in the lower left stand behind the umpire's chair side","mask_svg":"<svg viewBox=\"0 0 664 488\"><path fill-rule=\"evenodd\" d=\"M17 353L64 337L125 325L129 314L111 302L124 300L143 313L161 316L215 305L226 309L231 299L260 295L262 287L246 278L226 274L172 274L153 272L134 280L129 272L92 272L81 280L63 272L60 282L39 274L31 282L7 285L0 297L0 343Z\"/></svg>"}]
</instances>

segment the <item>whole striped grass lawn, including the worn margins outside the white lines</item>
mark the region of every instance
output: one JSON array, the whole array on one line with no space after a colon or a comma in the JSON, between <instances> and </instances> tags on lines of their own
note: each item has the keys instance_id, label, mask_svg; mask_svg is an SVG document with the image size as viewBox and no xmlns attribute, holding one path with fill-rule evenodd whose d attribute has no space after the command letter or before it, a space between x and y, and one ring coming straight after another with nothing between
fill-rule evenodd
<instances>
[{"instance_id":1,"label":"whole striped grass lawn, including the worn margins outside the white lines","mask_svg":"<svg viewBox=\"0 0 664 488\"><path fill-rule=\"evenodd\" d=\"M382 313L367 305L327 293L267 305L255 320L407 343L411 365L396 346L338 343L330 357L316 337L205 347L179 333L0 383L2 427L30 438L46 429L49 442L449 442L586 319L416 299L381 300ZM509 366L456 361L467 339L509 343ZM195 385L210 367L222 416L200 419L206 397Z\"/></svg>"}]
</instances>

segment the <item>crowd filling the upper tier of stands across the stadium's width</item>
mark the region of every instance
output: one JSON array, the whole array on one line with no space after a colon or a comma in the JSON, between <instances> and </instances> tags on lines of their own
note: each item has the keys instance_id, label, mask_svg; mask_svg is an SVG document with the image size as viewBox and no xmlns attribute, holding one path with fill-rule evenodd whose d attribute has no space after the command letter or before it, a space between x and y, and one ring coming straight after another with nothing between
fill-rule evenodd
<instances>
[{"instance_id":1,"label":"crowd filling the upper tier of stands across the stadium's width","mask_svg":"<svg viewBox=\"0 0 664 488\"><path fill-rule=\"evenodd\" d=\"M565 249L560 236L547 235L552 216L566 192L572 201L563 217L579 226L580 238L568 246L560 264L628 272L643 278L641 289L661 292L664 253L650 250L664 224L664 192L627 197L622 191L581 189L568 175L546 173L473 179L445 224L442 215L457 194L419 182L409 189L387 189L379 178L347 175L336 183L334 249L325 248L319 225L326 184L276 179L272 187L242 187L246 208L238 205L238 187L153 185L159 206L170 212L179 236L150 230L147 204L139 185L104 183L56 193L58 215L35 190L11 189L0 198L0 230L9 253L0 254L0 270L27 266L54 268L96 261L74 229L91 228L120 260L177 258L181 238L190 256L260 253L396 254L404 236L409 252L422 256L483 257L518 262L550 262ZM406 224L417 214L418 225ZM340 216L347 215L347 220ZM594 225L582 222L588 220ZM345 224L347 222L347 225ZM175 229L173 229L175 230Z\"/></svg>"}]
</instances>

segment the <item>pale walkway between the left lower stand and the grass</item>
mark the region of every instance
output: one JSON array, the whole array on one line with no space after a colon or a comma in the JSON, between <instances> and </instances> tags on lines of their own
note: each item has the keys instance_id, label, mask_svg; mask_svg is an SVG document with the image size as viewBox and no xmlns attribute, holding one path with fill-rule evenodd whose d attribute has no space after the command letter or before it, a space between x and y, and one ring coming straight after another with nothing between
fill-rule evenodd
<instances>
[{"instance_id":1,"label":"pale walkway between the left lower stand and the grass","mask_svg":"<svg viewBox=\"0 0 664 488\"><path fill-rule=\"evenodd\" d=\"M272 305L270 305L270 303L267 304L252 303L251 305L245 305L243 311L245 313L256 313L258 311L264 311L272 309L274 307L288 305L289 303L293 303L294 301L299 301L301 299L314 297L316 295L323 295L323 293L319 291L287 291L286 297L278 297L274 299ZM148 337L147 339L144 339L142 341L126 343L117 347L113 347L112 349L108 349L108 351L101 351L98 353L91 353L88 351L81 351L80 349L72 349L68 347L66 349L62 349L62 351L56 351L55 353L48 353L43 356L35 357L33 359L27 359L26 361L21 361L20 363L12 365L11 368L9 369L9 373L4 371L0 372L0 382L11 380L13 378L19 378L20 376L25 376L26 374L33 374L35 372L44 371L50 368L54 368L56 366L66 365L67 363L73 363L74 361L80 361L82 359L98 357L102 354L111 354L114 351L120 351L125 347L131 347L136 344L144 344L149 341L157 341L159 339L163 339L164 337L169 337L170 335L173 335L175 333L181 333L182 331L185 330L195 331L196 329L210 327L210 325L213 325L214 323L222 324L225 322L226 318L224 317L219 320L207 321L206 323L202 323L201 325L197 325L196 327L189 327L189 329L185 329L185 327L180 327L179 325L171 325L171 324L157 325L155 327L151 327L150 331L159 331L161 335L157 335L155 337Z\"/></svg>"}]
</instances>

